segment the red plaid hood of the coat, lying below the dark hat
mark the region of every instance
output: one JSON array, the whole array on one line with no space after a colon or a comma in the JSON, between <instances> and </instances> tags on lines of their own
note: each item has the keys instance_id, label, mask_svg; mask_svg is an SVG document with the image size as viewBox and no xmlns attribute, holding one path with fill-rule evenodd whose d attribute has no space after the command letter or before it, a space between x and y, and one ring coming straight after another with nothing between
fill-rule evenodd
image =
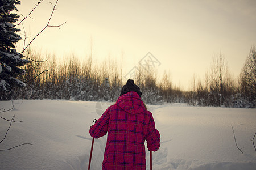
<instances>
[{"instance_id":1,"label":"red plaid hood of the coat, lying below the dark hat","mask_svg":"<svg viewBox=\"0 0 256 170\"><path fill-rule=\"evenodd\" d=\"M142 113L146 110L143 101L141 100L141 97L139 97L137 92L133 91L120 96L117 99L116 104L118 105L118 107L131 114Z\"/></svg>"}]
</instances>

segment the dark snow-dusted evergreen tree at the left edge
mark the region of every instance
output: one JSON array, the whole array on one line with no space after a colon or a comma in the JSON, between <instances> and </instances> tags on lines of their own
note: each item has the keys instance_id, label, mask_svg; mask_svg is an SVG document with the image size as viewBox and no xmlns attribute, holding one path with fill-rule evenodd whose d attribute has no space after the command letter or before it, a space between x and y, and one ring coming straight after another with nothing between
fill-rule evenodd
<instances>
[{"instance_id":1,"label":"dark snow-dusted evergreen tree at the left edge","mask_svg":"<svg viewBox=\"0 0 256 170\"><path fill-rule=\"evenodd\" d=\"M15 28L14 23L19 19L16 5L19 0L0 0L0 99L11 99L11 92L15 86L22 87L25 84L18 79L24 74L21 67L29 61L22 59L24 56L16 52L15 44L21 39L16 34L20 29Z\"/></svg>"}]
</instances>

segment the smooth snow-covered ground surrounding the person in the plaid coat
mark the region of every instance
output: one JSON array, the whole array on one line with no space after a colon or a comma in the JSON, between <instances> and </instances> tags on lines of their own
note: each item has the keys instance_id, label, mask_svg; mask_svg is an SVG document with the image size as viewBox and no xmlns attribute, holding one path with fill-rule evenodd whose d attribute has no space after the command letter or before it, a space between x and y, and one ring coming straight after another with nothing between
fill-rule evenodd
<instances>
[{"instance_id":1,"label":"smooth snow-covered ground surrounding the person in the plaid coat","mask_svg":"<svg viewBox=\"0 0 256 170\"><path fill-rule=\"evenodd\" d=\"M0 150L0 169L87 169L92 138L89 127L111 103L14 100L15 109L0 116L11 124ZM0 108L12 107L0 101ZM153 169L256 169L253 146L256 109L148 105L161 134ZM3 111L3 110L1 110ZM0 119L0 141L10 122ZM234 142L234 133L238 147ZM106 137L95 139L91 169L101 169ZM256 143L256 139L254 140ZM147 151L147 169L149 152Z\"/></svg>"}]
</instances>

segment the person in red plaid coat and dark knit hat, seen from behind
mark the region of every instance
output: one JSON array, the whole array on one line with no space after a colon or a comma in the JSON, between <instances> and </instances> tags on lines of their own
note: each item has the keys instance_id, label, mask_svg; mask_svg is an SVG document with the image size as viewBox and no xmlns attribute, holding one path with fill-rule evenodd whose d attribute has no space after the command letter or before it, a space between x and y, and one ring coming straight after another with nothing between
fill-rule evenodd
<instances>
[{"instance_id":1,"label":"person in red plaid coat and dark knit hat, seen from behind","mask_svg":"<svg viewBox=\"0 0 256 170\"><path fill-rule=\"evenodd\" d=\"M134 80L127 80L116 103L90 127L93 138L108 133L102 169L146 169L145 140L148 150L159 149L160 133L141 95Z\"/></svg>"}]
</instances>

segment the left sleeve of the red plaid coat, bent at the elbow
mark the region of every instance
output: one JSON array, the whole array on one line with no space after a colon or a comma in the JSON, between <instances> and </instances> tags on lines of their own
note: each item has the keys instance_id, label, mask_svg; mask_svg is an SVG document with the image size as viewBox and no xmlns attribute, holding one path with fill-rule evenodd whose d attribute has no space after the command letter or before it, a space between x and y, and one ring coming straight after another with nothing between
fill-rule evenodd
<instances>
[{"instance_id":1,"label":"left sleeve of the red plaid coat, bent at the elbow","mask_svg":"<svg viewBox=\"0 0 256 170\"><path fill-rule=\"evenodd\" d=\"M97 122L90 126L90 135L93 138L100 138L106 135L108 132L109 125L109 108L102 114L102 116L97 120Z\"/></svg>"}]
</instances>

